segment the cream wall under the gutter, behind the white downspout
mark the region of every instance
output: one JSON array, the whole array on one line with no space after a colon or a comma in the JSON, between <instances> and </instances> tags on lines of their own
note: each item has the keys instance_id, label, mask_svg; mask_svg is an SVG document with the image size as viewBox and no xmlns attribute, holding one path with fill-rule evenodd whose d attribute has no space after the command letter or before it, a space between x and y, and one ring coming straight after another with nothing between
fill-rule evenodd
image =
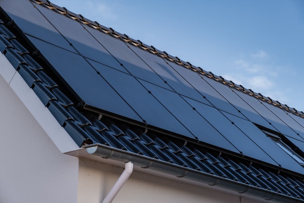
<instances>
[{"instance_id":1,"label":"cream wall under the gutter, behind the white downspout","mask_svg":"<svg viewBox=\"0 0 304 203\"><path fill-rule=\"evenodd\" d=\"M79 159L78 203L101 202L123 168ZM133 171L113 203L257 203L235 195Z\"/></svg>"}]
</instances>

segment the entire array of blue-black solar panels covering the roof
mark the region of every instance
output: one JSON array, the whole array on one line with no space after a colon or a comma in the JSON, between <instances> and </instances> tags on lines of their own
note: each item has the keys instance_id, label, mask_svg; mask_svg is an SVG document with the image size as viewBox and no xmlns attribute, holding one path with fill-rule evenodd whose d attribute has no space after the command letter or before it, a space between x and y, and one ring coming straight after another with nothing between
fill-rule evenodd
<instances>
[{"instance_id":1,"label":"entire array of blue-black solar panels covering the roof","mask_svg":"<svg viewBox=\"0 0 304 203\"><path fill-rule=\"evenodd\" d=\"M253 124L304 150L302 118L27 0L0 5L85 104L304 174Z\"/></svg>"}]
</instances>

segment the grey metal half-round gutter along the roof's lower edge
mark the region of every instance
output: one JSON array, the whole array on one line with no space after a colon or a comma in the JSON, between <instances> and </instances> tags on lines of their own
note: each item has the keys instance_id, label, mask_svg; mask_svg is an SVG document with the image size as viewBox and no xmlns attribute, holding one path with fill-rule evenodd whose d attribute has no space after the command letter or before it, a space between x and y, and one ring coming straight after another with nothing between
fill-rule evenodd
<instances>
[{"instance_id":1,"label":"grey metal half-round gutter along the roof's lower edge","mask_svg":"<svg viewBox=\"0 0 304 203\"><path fill-rule=\"evenodd\" d=\"M116 149L107 145L92 144L85 145L83 146L83 148L85 148L89 154L100 156L104 159L112 159L123 163L131 161L135 166L140 166L145 169L149 168L150 170L174 175L180 178L186 178L188 180L194 180L211 186L221 187L230 191L263 198L265 200L271 200L281 203L304 202L304 200L294 198L285 194L280 194L260 187L240 183L235 180L218 177L216 175L168 163L159 159L139 155L133 152Z\"/></svg>"}]
</instances>

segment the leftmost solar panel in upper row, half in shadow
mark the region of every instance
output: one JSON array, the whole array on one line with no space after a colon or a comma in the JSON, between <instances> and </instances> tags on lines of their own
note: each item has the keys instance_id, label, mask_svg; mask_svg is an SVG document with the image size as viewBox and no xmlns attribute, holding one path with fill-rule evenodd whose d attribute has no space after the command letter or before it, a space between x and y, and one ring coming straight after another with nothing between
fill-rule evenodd
<instances>
[{"instance_id":1,"label":"leftmost solar panel in upper row, half in shadow","mask_svg":"<svg viewBox=\"0 0 304 203\"><path fill-rule=\"evenodd\" d=\"M1 7L5 9L5 12L14 20L22 32L74 51L60 33L38 12L33 3L1 0Z\"/></svg>"}]
</instances>

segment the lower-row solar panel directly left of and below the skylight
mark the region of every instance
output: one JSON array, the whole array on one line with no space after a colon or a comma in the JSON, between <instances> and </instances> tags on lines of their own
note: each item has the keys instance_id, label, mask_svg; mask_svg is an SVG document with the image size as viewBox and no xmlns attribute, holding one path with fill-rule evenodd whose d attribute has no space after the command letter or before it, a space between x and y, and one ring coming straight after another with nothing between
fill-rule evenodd
<instances>
[{"instance_id":1,"label":"lower-row solar panel directly left of and below the skylight","mask_svg":"<svg viewBox=\"0 0 304 203\"><path fill-rule=\"evenodd\" d=\"M237 119L231 114L223 112L227 117L229 117L233 122L237 123L237 126L246 133L261 149L264 150L275 162L280 164L283 168L296 171L298 173L303 173L304 168L299 165L294 159L292 159L286 152L284 152L271 138L267 137L264 132L256 128L253 124L244 119ZM249 146L248 146L249 147ZM261 158L260 160L266 160ZM267 161L266 161L267 162ZM269 162L272 163L272 162Z\"/></svg>"}]
</instances>

